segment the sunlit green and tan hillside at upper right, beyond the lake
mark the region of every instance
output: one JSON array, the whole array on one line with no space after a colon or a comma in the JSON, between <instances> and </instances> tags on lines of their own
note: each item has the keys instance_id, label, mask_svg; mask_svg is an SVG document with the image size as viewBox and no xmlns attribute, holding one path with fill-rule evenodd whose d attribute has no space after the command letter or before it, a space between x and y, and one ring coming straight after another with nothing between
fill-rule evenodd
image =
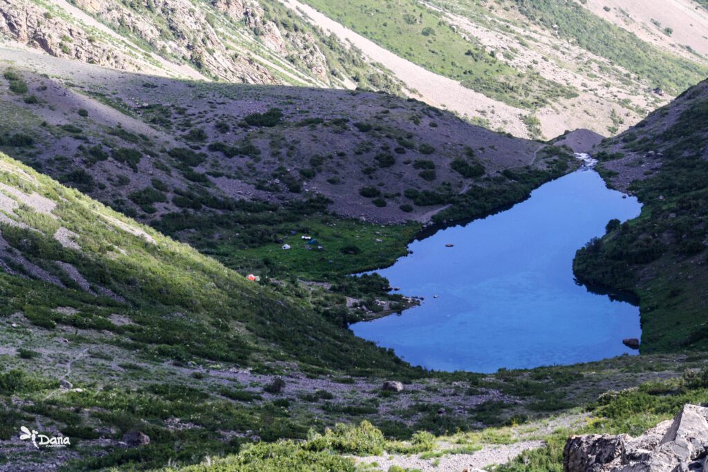
<instances>
[{"instance_id":1,"label":"sunlit green and tan hillside at upper right, beyond the lake","mask_svg":"<svg viewBox=\"0 0 708 472\"><path fill-rule=\"evenodd\" d=\"M519 120L532 136L549 138L576 127L615 134L708 70L701 47L708 23L702 12L692 21L688 0L674 2L683 14L673 16L671 24L682 31L678 41L684 41L683 31L697 38L689 41L693 47L656 42L653 33L641 35L630 28L627 24L641 23L634 18L639 12L646 14L640 6L625 12L627 24L615 25L603 8L600 14L588 2L575 0L305 3L400 57L493 98L504 124L474 100L466 100L467 109L460 110L454 102L461 93L451 93L442 104L517 135ZM664 2L649 3L654 10L670 10ZM287 4L298 5L295 0ZM360 47L367 52L364 44ZM439 80L438 86L451 84ZM663 90L655 93L656 88ZM418 88L423 97L426 90Z\"/></svg>"}]
</instances>

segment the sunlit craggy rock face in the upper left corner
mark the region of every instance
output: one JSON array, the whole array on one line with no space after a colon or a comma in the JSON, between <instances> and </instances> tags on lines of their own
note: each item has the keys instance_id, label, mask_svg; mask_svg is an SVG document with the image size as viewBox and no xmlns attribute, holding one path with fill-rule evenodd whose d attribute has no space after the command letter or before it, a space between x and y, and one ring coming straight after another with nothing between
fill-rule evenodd
<instances>
[{"instance_id":1,"label":"sunlit craggy rock face in the upper left corner","mask_svg":"<svg viewBox=\"0 0 708 472\"><path fill-rule=\"evenodd\" d=\"M154 0L139 8L130 8L118 0L76 0L74 6L93 18L101 18L113 29L114 37L106 41L104 34L95 33L98 25L87 28L84 23L69 21L28 0L0 0L0 38L11 38L55 57L127 71L152 68L186 74L185 69L191 68L190 74L206 74L230 82L280 83L268 67L250 54L234 52L218 33L218 27L210 24L207 13L194 8L188 0ZM215 13L232 19L234 31L252 35L268 50L308 69L314 79L330 83L327 59L312 33L281 28L265 15L257 1L212 0L212 6ZM129 46L130 40L122 42L125 31L150 45L153 53L146 55L135 45ZM161 65L154 66L156 62Z\"/></svg>"}]
</instances>

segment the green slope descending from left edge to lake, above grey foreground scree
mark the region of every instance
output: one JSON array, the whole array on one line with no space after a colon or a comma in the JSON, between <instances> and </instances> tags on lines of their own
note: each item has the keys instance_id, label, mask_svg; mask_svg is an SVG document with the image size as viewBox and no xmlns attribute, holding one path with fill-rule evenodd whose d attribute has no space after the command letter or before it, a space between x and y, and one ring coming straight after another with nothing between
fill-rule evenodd
<instances>
[{"instance_id":1,"label":"green slope descending from left edge to lake, above grey foreground scree","mask_svg":"<svg viewBox=\"0 0 708 472\"><path fill-rule=\"evenodd\" d=\"M316 364L338 362L337 355L324 359L330 336L335 344L353 342L348 349L371 349L307 306L246 281L189 246L6 156L0 165L5 316L22 312L48 329L62 323L114 330L138 350L239 364L266 353L274 357L280 349L297 354L299 362L308 362L307 350ZM57 313L61 306L74 313ZM111 316L136 324L126 331ZM298 331L302 339L296 341ZM308 341L313 331L319 339ZM368 365L363 351L356 357L355 363Z\"/></svg>"}]
</instances>

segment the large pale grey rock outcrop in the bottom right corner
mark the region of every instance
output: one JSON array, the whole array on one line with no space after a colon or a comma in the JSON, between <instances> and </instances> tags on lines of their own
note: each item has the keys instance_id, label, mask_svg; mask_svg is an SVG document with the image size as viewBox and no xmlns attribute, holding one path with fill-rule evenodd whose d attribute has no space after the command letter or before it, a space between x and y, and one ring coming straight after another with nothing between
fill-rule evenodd
<instances>
[{"instance_id":1,"label":"large pale grey rock outcrop in the bottom right corner","mask_svg":"<svg viewBox=\"0 0 708 472\"><path fill-rule=\"evenodd\" d=\"M639 437L586 434L568 439L565 472L708 472L708 408L684 405L673 420Z\"/></svg>"}]
</instances>

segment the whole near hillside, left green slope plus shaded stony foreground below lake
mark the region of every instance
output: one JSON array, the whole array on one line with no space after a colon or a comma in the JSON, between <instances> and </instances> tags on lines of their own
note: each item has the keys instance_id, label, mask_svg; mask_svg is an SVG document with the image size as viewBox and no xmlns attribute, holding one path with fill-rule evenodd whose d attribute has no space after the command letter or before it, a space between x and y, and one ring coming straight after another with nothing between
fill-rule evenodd
<instances>
[{"instance_id":1,"label":"whole near hillside, left green slope plus shaded stony foreground below lake","mask_svg":"<svg viewBox=\"0 0 708 472\"><path fill-rule=\"evenodd\" d=\"M242 448L226 460L253 471L354 470L341 454L384 448L394 462L404 454L464 458L530 434L557 442L562 433L553 427L518 423L587 403L608 385L635 386L706 362L623 357L496 375L412 369L321 314L343 295L250 282L4 154L0 268L6 471L145 470ZM382 391L391 378L404 381L403 392ZM362 420L375 427L324 432ZM513 430L476 431L503 424ZM558 424L583 423L571 416ZM37 454L18 436L21 426L69 437L72 447ZM452 441L460 444L454 453L445 447ZM541 446L513 447L506 457Z\"/></svg>"}]
</instances>

